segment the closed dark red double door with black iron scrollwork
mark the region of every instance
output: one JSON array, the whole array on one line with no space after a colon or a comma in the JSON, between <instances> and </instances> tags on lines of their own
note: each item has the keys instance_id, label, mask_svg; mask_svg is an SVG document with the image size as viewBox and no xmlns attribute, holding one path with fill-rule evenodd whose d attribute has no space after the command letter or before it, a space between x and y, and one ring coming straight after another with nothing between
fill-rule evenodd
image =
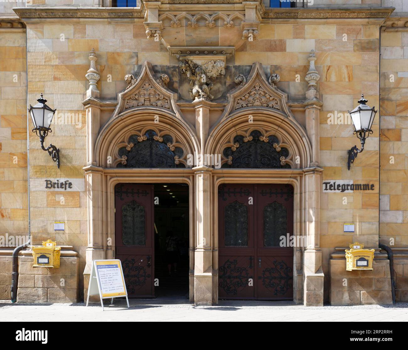
<instances>
[{"instance_id":1,"label":"closed dark red double door with black iron scrollwork","mask_svg":"<svg viewBox=\"0 0 408 350\"><path fill-rule=\"evenodd\" d=\"M218 188L220 299L293 299L293 187Z\"/></svg>"}]
</instances>

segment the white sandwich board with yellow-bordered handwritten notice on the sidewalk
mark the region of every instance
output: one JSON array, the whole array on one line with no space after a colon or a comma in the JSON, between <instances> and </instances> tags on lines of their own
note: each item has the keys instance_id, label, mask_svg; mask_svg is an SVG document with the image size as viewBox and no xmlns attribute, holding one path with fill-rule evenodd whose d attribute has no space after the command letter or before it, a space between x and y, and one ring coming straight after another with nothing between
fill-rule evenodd
<instances>
[{"instance_id":1,"label":"white sandwich board with yellow-bordered handwritten notice on the sidewalk","mask_svg":"<svg viewBox=\"0 0 408 350\"><path fill-rule=\"evenodd\" d=\"M122 264L119 259L93 260L86 306L88 306L90 295L100 296L102 310L104 310L102 299L111 298L112 304L113 298L117 297L126 297L129 308Z\"/></svg>"}]
</instances>

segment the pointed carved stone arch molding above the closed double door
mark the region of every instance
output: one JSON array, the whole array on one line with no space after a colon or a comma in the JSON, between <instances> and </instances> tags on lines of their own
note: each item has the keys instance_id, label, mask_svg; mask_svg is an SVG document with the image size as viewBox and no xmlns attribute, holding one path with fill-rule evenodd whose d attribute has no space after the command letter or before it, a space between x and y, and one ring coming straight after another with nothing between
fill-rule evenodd
<instances>
[{"instance_id":1,"label":"pointed carved stone arch molding above the closed double door","mask_svg":"<svg viewBox=\"0 0 408 350\"><path fill-rule=\"evenodd\" d=\"M211 128L204 153L221 154L222 164L228 164L231 159L224 156L224 149L237 147L233 141L236 135L248 137L256 130L261 132L264 140L276 137L275 149L288 149L289 155L281 159L282 165L286 163L291 168L310 166L310 140L287 106L287 94L273 83L278 80L279 77L273 75L268 82L262 65L254 63L247 82L228 94L228 105Z\"/></svg>"}]
</instances>

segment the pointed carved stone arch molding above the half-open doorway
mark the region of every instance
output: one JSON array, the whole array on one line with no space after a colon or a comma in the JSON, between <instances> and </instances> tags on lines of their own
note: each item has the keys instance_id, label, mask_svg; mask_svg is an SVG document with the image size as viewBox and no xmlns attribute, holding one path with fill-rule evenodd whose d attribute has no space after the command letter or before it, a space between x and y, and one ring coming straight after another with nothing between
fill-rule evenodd
<instances>
[{"instance_id":1,"label":"pointed carved stone arch molding above the half-open doorway","mask_svg":"<svg viewBox=\"0 0 408 350\"><path fill-rule=\"evenodd\" d=\"M153 130L159 142L164 135L171 136L173 142L167 146L179 147L183 151L182 157L175 159L175 164L182 163L187 167L185 158L200 153L200 146L190 124L181 117L176 104L177 94L160 84L160 79L155 79L149 62L144 62L139 78L129 76L126 77L129 86L118 94L118 105L96 140L95 165L116 167L125 160L118 154L119 149L132 147L129 137L137 135L143 139L146 131Z\"/></svg>"}]
</instances>

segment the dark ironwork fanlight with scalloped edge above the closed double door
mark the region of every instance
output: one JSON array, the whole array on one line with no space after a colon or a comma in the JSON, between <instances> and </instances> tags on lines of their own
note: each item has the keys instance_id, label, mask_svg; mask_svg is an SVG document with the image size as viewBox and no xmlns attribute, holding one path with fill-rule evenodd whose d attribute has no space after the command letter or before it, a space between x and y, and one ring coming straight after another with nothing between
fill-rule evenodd
<instances>
[{"instance_id":1,"label":"dark ironwork fanlight with scalloped edge above the closed double door","mask_svg":"<svg viewBox=\"0 0 408 350\"><path fill-rule=\"evenodd\" d=\"M266 137L258 130L249 136L235 136L233 146L226 147L223 155L228 159L223 168L290 169L290 164L285 162L288 149L279 146L277 137Z\"/></svg>"}]
</instances>

